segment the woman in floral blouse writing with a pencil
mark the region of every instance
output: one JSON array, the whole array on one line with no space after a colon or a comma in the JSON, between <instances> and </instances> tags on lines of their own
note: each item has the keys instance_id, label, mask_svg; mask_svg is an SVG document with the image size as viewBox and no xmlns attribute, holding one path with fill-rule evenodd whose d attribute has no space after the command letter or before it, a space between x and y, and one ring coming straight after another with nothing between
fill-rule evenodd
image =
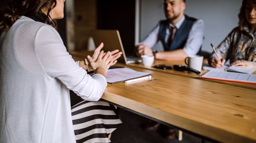
<instances>
[{"instance_id":1,"label":"woman in floral blouse writing with a pencil","mask_svg":"<svg viewBox=\"0 0 256 143\"><path fill-rule=\"evenodd\" d=\"M243 0L238 18L239 26L216 49L221 61L213 53L208 60L211 66L223 67L229 59L230 65L256 68L256 0Z\"/></svg>"}]
</instances>

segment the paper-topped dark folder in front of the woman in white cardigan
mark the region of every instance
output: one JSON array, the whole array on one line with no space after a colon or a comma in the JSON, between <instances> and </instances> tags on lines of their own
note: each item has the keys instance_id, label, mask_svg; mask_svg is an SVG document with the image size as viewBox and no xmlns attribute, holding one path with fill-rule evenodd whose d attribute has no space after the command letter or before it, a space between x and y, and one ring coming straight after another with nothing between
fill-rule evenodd
<instances>
[{"instance_id":1,"label":"paper-topped dark folder in front of the woman in white cardigan","mask_svg":"<svg viewBox=\"0 0 256 143\"><path fill-rule=\"evenodd\" d=\"M150 76L151 73L139 72L127 67L114 68L107 70L106 80L107 83L116 84L125 82L130 79L140 78L144 76Z\"/></svg>"}]
</instances>

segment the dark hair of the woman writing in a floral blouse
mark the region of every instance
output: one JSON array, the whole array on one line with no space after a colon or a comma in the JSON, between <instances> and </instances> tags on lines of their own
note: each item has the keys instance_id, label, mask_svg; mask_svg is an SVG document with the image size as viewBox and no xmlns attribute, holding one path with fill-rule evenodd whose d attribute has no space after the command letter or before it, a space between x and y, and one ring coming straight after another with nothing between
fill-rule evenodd
<instances>
[{"instance_id":1,"label":"dark hair of the woman writing in a floral blouse","mask_svg":"<svg viewBox=\"0 0 256 143\"><path fill-rule=\"evenodd\" d=\"M247 0L243 0L242 6L240 8L240 12L238 14L238 18L239 18L238 25L239 25L239 28L240 28L241 31L244 29L244 27L246 25L249 24L247 19L246 19L246 15L245 15L246 2L247 2ZM256 0L254 0L254 2L256 2Z\"/></svg>"}]
</instances>

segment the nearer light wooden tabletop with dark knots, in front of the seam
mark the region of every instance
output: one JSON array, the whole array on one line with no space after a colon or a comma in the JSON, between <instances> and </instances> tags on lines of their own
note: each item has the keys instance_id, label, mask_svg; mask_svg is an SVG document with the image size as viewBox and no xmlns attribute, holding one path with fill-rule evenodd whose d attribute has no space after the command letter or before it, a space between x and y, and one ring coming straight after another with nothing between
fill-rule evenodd
<instances>
[{"instance_id":1,"label":"nearer light wooden tabletop with dark knots, in front of the seam","mask_svg":"<svg viewBox=\"0 0 256 143\"><path fill-rule=\"evenodd\" d=\"M152 80L108 84L102 99L216 141L256 142L254 89L119 65L152 73Z\"/></svg>"}]
</instances>

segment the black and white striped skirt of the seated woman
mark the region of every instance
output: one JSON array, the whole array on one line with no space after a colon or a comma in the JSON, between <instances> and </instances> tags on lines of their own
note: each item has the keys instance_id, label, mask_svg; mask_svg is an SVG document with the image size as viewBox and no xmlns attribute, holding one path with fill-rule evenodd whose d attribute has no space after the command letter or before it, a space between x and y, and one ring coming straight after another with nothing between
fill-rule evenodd
<instances>
[{"instance_id":1,"label":"black and white striped skirt of the seated woman","mask_svg":"<svg viewBox=\"0 0 256 143\"><path fill-rule=\"evenodd\" d=\"M109 143L109 134L122 123L115 107L103 101L82 101L71 113L77 143Z\"/></svg>"}]
</instances>

